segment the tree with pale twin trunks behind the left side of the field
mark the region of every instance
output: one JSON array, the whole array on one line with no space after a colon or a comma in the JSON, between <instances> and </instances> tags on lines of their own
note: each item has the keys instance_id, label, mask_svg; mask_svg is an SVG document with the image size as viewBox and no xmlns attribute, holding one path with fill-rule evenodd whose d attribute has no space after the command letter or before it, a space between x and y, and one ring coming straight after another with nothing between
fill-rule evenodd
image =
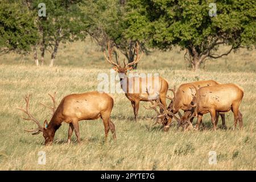
<instances>
[{"instance_id":1,"label":"tree with pale twin trunks behind the left side of the field","mask_svg":"<svg viewBox=\"0 0 256 182\"><path fill-rule=\"evenodd\" d=\"M45 0L46 16L38 16L40 0L26 0L27 6L34 12L35 22L40 35L41 64L44 63L44 54L48 50L51 52L51 67L60 43L73 42L84 39L85 30L88 24L84 19L84 14L80 10L82 1L80 0ZM36 49L35 49L36 50Z\"/></svg>"}]
</instances>

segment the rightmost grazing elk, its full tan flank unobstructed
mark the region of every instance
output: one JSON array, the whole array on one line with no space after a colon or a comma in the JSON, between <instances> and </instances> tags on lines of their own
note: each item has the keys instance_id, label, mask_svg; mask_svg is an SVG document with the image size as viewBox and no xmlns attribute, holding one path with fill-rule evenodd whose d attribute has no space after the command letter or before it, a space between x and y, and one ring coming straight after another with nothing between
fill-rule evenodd
<instances>
[{"instance_id":1,"label":"rightmost grazing elk, its full tan flank unobstructed","mask_svg":"<svg viewBox=\"0 0 256 182\"><path fill-rule=\"evenodd\" d=\"M242 98L243 89L236 84L221 84L200 88L196 91L196 95L193 96L191 102L191 107L195 108L194 113L191 113L191 115L195 114L195 117L197 117L196 128L199 128L203 114L210 113L213 129L216 130L216 112L224 113L232 110L234 114L234 129L236 129L237 121L239 121L241 129L243 124L239 106Z\"/></svg>"}]
</instances>

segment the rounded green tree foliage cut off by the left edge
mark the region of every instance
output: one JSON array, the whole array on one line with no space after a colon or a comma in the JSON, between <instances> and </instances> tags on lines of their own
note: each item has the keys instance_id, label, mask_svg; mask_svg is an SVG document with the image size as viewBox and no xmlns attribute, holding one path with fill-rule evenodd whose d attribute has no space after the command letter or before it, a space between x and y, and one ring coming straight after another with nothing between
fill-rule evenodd
<instances>
[{"instance_id":1,"label":"rounded green tree foliage cut off by the left edge","mask_svg":"<svg viewBox=\"0 0 256 182\"><path fill-rule=\"evenodd\" d=\"M0 55L14 51L27 53L37 42L36 26L20 1L0 1Z\"/></svg>"}]
</instances>

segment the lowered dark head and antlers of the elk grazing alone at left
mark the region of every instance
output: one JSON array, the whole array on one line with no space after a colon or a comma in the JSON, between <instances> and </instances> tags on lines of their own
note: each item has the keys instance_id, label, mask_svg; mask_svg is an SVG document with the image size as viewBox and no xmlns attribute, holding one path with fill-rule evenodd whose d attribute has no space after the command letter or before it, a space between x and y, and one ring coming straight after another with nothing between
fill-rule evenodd
<instances>
[{"instance_id":1,"label":"lowered dark head and antlers of the elk grazing alone at left","mask_svg":"<svg viewBox=\"0 0 256 182\"><path fill-rule=\"evenodd\" d=\"M46 106L44 104L44 106L48 107L49 109L52 110L52 113L55 113L55 95L56 93L52 96L51 94L49 94L49 96L51 96L52 101L53 101L53 107L49 107ZM43 126L40 125L40 122L38 121L38 119L36 119L31 113L30 113L30 108L29 108L29 102L30 102L30 98L31 98L31 94L28 94L27 96L24 97L25 101L26 101L26 109L23 109L23 107L18 107L17 109L21 110L23 113L27 114L27 118L22 117L24 120L26 121L34 121L36 123L36 125L38 125L37 129L24 129L27 132L32 132L32 135L38 135L40 132L43 133L43 137L45 139L44 144L51 144L55 135L55 132L52 129L48 128L48 122L47 119L44 121Z\"/></svg>"}]
</instances>

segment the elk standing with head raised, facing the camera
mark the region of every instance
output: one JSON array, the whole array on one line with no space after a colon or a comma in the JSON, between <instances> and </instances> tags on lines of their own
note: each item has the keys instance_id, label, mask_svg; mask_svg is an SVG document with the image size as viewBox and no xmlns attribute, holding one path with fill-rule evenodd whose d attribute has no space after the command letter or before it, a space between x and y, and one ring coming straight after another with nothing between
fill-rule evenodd
<instances>
[{"instance_id":1,"label":"elk standing with head raised, facing the camera","mask_svg":"<svg viewBox=\"0 0 256 182\"><path fill-rule=\"evenodd\" d=\"M162 77L127 77L127 71L133 69L133 65L137 64L143 55L139 55L139 44L136 43L136 47L134 47L134 51L136 52L136 56L133 62L125 63L123 60L124 66L121 67L118 59L117 63L114 63L112 59L114 47L110 48L110 44L108 44L108 56L106 56L104 52L104 56L108 63L112 64L113 69L118 72L121 88L125 92L125 96L131 101L131 105L133 106L135 121L138 121L138 111L139 111L139 101L147 101L146 98L148 94L146 92L146 88L150 87L152 84L152 96L156 96L159 94L160 102L166 106L166 94L168 92L168 82Z\"/></svg>"}]
</instances>

